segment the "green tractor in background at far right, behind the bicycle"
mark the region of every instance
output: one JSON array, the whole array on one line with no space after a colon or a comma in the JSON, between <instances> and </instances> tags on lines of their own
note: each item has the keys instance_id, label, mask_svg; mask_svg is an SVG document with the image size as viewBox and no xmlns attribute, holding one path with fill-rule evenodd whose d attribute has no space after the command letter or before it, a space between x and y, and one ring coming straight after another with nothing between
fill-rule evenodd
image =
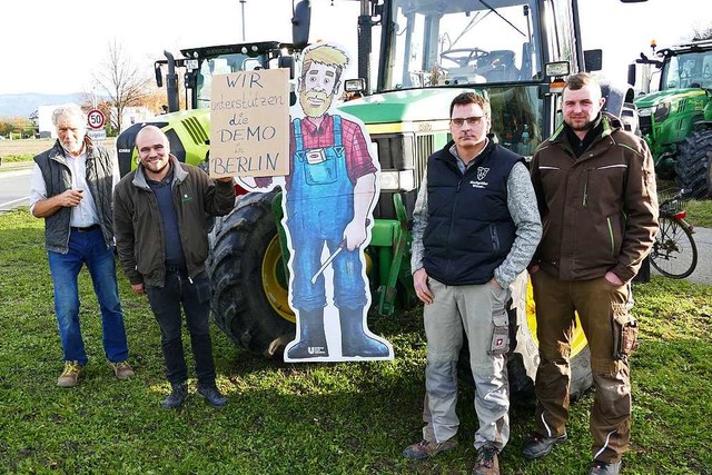
<instances>
[{"instance_id":1,"label":"green tractor in background at far right, behind the bicycle","mask_svg":"<svg viewBox=\"0 0 712 475\"><path fill-rule=\"evenodd\" d=\"M653 51L659 59L641 53L636 62L659 69L657 91L644 81L647 93L634 103L655 170L691 197L712 197L712 39ZM635 83L634 65L629 82Z\"/></svg>"}]
</instances>

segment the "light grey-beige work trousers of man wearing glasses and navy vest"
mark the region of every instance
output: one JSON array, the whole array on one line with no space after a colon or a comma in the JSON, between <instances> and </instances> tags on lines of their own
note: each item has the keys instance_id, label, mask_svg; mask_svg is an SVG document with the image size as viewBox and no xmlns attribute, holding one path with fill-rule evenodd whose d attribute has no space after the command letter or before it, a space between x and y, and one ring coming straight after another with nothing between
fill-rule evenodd
<instances>
[{"instance_id":1,"label":"light grey-beige work trousers of man wearing glasses and navy vest","mask_svg":"<svg viewBox=\"0 0 712 475\"><path fill-rule=\"evenodd\" d=\"M479 420L474 446L492 443L502 451L510 438L508 289L492 284L446 286L432 278L428 284L434 301L423 314L427 337L423 438L442 443L457 434L457 359L464 331Z\"/></svg>"}]
</instances>

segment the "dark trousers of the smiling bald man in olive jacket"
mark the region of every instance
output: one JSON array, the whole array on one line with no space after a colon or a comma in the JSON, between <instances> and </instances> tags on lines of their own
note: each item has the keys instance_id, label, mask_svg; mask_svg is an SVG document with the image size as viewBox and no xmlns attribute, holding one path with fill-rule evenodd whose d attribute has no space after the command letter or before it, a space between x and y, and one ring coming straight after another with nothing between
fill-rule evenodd
<instances>
[{"instance_id":1,"label":"dark trousers of the smiling bald man in olive jacket","mask_svg":"<svg viewBox=\"0 0 712 475\"><path fill-rule=\"evenodd\" d=\"M164 287L146 286L148 301L160 327L160 345L166 378L171 385L188 380L182 352L180 306L186 314L190 346L196 360L198 386L215 386L215 364L210 340L210 280L205 274L188 278L185 269L166 269Z\"/></svg>"}]
</instances>

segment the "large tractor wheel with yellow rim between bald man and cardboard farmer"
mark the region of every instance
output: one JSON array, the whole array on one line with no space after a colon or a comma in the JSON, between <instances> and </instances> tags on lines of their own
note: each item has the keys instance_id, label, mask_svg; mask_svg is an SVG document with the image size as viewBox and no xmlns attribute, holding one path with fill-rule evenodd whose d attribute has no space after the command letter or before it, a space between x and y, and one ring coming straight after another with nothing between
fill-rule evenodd
<instances>
[{"instance_id":1,"label":"large tractor wheel with yellow rim between bald man and cardboard farmer","mask_svg":"<svg viewBox=\"0 0 712 475\"><path fill-rule=\"evenodd\" d=\"M211 232L212 319L245 349L274 356L294 339L287 277L271 210L276 191L240 197Z\"/></svg>"}]
</instances>

